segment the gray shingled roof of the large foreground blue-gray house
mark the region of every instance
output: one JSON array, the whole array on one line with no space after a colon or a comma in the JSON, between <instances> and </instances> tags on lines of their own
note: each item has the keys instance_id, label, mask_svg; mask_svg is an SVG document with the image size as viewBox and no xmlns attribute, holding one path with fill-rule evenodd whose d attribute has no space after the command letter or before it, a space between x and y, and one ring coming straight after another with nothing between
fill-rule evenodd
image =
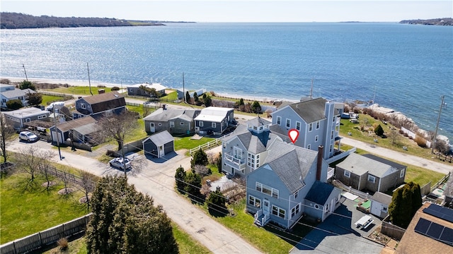
<instances>
[{"instance_id":1,"label":"gray shingled roof of the large foreground blue-gray house","mask_svg":"<svg viewBox=\"0 0 453 254\"><path fill-rule=\"evenodd\" d=\"M318 152L287 143L275 142L265 163L277 174L290 193L305 186L304 179L316 164Z\"/></svg>"}]
</instances>

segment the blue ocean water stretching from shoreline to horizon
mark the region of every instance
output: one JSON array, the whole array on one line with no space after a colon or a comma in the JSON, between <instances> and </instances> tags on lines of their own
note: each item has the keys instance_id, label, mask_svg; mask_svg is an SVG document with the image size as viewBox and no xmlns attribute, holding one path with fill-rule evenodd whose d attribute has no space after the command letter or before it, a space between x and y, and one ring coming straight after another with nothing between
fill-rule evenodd
<instances>
[{"instance_id":1,"label":"blue ocean water stretching from shoreline to horizon","mask_svg":"<svg viewBox=\"0 0 453 254\"><path fill-rule=\"evenodd\" d=\"M158 82L221 94L370 101L453 139L453 28L399 23L171 23L1 30L0 75ZM450 106L451 105L451 106Z\"/></svg>"}]
</instances>

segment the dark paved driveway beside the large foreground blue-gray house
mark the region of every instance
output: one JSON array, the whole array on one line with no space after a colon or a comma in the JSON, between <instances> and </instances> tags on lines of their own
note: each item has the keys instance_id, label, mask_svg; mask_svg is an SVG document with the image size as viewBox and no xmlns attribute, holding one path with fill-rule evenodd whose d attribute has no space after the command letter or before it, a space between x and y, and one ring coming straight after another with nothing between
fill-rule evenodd
<instances>
[{"instance_id":1,"label":"dark paved driveway beside the large foreground blue-gray house","mask_svg":"<svg viewBox=\"0 0 453 254\"><path fill-rule=\"evenodd\" d=\"M355 204L342 198L335 214L311 230L289 253L380 253L384 246L362 237L372 233L380 224L379 219L373 217L374 225L367 231L357 229L354 223L365 214L356 210Z\"/></svg>"}]
</instances>

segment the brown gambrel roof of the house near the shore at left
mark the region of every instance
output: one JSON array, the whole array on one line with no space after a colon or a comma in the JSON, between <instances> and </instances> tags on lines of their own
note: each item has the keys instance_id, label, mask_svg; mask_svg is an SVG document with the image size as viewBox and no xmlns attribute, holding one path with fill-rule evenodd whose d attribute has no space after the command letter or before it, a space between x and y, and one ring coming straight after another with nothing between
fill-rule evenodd
<instances>
[{"instance_id":1,"label":"brown gambrel roof of the house near the shore at left","mask_svg":"<svg viewBox=\"0 0 453 254\"><path fill-rule=\"evenodd\" d=\"M121 95L118 92L106 92L100 95L83 97L81 99L84 99L84 101L91 104L91 109L95 114L108 109L126 106L124 95Z\"/></svg>"}]
</instances>

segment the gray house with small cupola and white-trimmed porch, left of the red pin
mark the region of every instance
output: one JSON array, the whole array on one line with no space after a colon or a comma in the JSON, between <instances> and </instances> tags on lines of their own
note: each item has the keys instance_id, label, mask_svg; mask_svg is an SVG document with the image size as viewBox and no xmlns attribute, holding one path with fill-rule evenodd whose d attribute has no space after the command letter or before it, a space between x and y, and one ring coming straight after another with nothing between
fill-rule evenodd
<instances>
[{"instance_id":1,"label":"gray house with small cupola and white-trimmed porch, left of the red pin","mask_svg":"<svg viewBox=\"0 0 453 254\"><path fill-rule=\"evenodd\" d=\"M282 142L282 138L270 133L270 124L257 117L222 138L222 171L246 176L258 169L268 156L269 147L277 140Z\"/></svg>"}]
</instances>

